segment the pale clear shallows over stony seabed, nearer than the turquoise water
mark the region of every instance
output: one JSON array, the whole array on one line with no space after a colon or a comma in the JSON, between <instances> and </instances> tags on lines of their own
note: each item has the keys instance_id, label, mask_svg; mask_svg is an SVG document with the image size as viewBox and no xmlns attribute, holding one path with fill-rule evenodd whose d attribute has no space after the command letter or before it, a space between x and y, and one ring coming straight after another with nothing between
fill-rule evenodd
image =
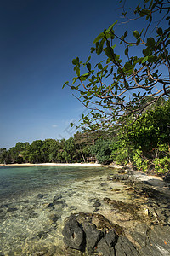
<instances>
[{"instance_id":1,"label":"pale clear shallows over stony seabed, nearer than the turquoise water","mask_svg":"<svg viewBox=\"0 0 170 256\"><path fill-rule=\"evenodd\" d=\"M64 220L71 212L99 212L111 218L111 206L104 197L130 201L121 183L106 180L107 173L93 178L67 181L65 186L32 190L28 195L3 201L0 205L0 247L2 255L51 255L63 247Z\"/></svg>"}]
</instances>

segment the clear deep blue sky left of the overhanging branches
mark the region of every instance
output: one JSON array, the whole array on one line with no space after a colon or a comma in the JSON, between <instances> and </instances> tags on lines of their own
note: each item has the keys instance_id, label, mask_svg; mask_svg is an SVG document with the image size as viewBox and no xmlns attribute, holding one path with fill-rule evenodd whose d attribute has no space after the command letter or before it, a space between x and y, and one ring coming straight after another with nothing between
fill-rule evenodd
<instances>
[{"instance_id":1,"label":"clear deep blue sky left of the overhanging branches","mask_svg":"<svg viewBox=\"0 0 170 256\"><path fill-rule=\"evenodd\" d=\"M136 6L135 0L128 0ZM0 3L0 148L70 137L84 108L62 89L94 38L120 19L117 0L5 0Z\"/></svg>"}]
</instances>

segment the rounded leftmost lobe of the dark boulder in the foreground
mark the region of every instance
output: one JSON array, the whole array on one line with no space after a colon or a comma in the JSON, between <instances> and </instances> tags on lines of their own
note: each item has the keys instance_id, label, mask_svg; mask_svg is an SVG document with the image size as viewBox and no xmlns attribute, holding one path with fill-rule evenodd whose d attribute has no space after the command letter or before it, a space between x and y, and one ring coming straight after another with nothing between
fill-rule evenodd
<instances>
[{"instance_id":1,"label":"rounded leftmost lobe of the dark boulder in the foreground","mask_svg":"<svg viewBox=\"0 0 170 256\"><path fill-rule=\"evenodd\" d=\"M62 234L66 246L82 251L84 246L84 232L78 224L76 216L71 215L67 219Z\"/></svg>"}]
</instances>

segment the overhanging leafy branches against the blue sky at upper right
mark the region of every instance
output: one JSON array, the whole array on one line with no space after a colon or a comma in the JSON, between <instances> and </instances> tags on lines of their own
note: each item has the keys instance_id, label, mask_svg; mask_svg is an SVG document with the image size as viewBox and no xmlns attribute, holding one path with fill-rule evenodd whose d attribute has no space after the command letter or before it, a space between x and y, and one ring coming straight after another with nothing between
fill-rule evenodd
<instances>
[{"instance_id":1,"label":"overhanging leafy branches against the blue sky at upper right","mask_svg":"<svg viewBox=\"0 0 170 256\"><path fill-rule=\"evenodd\" d=\"M72 61L77 76L65 84L89 109L82 115L83 125L94 129L125 122L129 116L135 120L150 104L170 96L169 10L168 0L141 1L133 9L132 33L117 34L116 21L94 39L91 53L104 59L94 65L91 56L85 62L78 57ZM141 30L138 20L144 24Z\"/></svg>"}]
</instances>

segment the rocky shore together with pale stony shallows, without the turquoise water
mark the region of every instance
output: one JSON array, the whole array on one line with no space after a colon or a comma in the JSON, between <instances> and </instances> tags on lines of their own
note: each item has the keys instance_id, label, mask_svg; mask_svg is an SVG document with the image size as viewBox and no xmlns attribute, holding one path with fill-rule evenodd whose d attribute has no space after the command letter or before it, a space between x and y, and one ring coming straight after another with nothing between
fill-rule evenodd
<instances>
[{"instance_id":1,"label":"rocky shore together with pale stony shallows, without the turquoise water","mask_svg":"<svg viewBox=\"0 0 170 256\"><path fill-rule=\"evenodd\" d=\"M169 181L106 168L4 198L0 255L170 255Z\"/></svg>"}]
</instances>

